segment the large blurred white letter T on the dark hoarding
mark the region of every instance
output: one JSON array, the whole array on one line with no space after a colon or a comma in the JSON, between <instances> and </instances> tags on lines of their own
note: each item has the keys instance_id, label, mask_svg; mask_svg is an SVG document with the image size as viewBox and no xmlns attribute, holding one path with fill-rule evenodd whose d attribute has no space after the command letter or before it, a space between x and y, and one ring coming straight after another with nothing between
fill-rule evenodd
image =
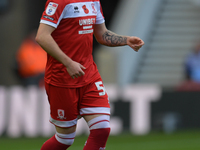
<instances>
[{"instance_id":1,"label":"large blurred white letter T on the dark hoarding","mask_svg":"<svg viewBox=\"0 0 200 150\"><path fill-rule=\"evenodd\" d=\"M156 85L133 85L124 88L123 98L131 102L130 130L135 134L146 134L151 128L150 103L157 101L161 90Z\"/></svg>"}]
</instances>

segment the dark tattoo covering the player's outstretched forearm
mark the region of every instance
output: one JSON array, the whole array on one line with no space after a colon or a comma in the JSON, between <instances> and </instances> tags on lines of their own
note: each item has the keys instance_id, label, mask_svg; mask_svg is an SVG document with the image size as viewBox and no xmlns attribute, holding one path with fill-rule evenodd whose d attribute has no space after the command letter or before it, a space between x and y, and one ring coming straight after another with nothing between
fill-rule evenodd
<instances>
[{"instance_id":1,"label":"dark tattoo covering the player's outstretched forearm","mask_svg":"<svg viewBox=\"0 0 200 150\"><path fill-rule=\"evenodd\" d=\"M120 46L127 44L127 38L117 35L111 31L106 31L103 34L103 40L106 42L106 45L109 46Z\"/></svg>"}]
</instances>

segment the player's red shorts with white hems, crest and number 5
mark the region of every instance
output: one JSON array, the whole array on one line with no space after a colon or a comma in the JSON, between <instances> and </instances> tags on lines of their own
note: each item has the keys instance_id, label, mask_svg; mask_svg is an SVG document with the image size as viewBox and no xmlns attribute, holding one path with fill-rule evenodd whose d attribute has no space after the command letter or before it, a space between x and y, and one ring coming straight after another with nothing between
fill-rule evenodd
<instances>
[{"instance_id":1,"label":"player's red shorts with white hems, crest and number 5","mask_svg":"<svg viewBox=\"0 0 200 150\"><path fill-rule=\"evenodd\" d=\"M77 124L78 115L110 115L109 98L102 79L80 88L57 87L45 83L50 103L50 122L59 127Z\"/></svg>"}]
</instances>

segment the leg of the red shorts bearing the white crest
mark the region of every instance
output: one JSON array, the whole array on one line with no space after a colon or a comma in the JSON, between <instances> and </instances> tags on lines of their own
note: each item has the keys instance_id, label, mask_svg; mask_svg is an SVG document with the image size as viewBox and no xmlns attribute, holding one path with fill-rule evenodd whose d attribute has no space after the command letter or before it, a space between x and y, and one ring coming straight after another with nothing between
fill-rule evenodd
<instances>
[{"instance_id":1,"label":"leg of the red shorts bearing the white crest","mask_svg":"<svg viewBox=\"0 0 200 150\"><path fill-rule=\"evenodd\" d=\"M70 128L77 124L77 89L56 87L45 84L50 103L50 122L60 128Z\"/></svg>"}]
</instances>

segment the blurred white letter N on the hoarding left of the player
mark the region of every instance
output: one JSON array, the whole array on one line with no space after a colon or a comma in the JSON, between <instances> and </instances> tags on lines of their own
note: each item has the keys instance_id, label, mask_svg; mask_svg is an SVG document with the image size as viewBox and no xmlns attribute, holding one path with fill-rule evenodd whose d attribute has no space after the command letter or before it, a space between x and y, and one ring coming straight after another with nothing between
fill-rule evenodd
<instances>
[{"instance_id":1,"label":"blurred white letter N on the hoarding left of the player","mask_svg":"<svg viewBox=\"0 0 200 150\"><path fill-rule=\"evenodd\" d=\"M10 93L12 94L10 94L8 135L18 137L24 133L25 136L36 136L39 115L37 114L37 89L29 87L27 90L23 90L13 87Z\"/></svg>"}]
</instances>

